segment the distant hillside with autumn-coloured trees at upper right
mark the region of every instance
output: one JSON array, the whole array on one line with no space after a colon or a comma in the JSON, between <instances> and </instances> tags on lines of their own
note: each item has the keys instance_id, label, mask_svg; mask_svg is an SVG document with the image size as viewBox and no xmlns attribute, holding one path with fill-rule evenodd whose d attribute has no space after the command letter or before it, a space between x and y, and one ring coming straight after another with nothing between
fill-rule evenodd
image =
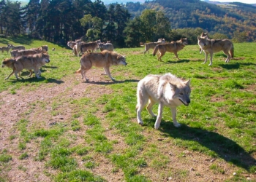
<instances>
[{"instance_id":1,"label":"distant hillside with autumn-coloured trees at upper right","mask_svg":"<svg viewBox=\"0 0 256 182\"><path fill-rule=\"evenodd\" d=\"M247 41L256 39L256 7L250 4L209 4L200 0L155 0L144 4L129 2L126 8L132 17L140 16L144 9L165 13L172 28L203 28L210 33L223 33L229 37L234 31L246 32Z\"/></svg>"}]
</instances>

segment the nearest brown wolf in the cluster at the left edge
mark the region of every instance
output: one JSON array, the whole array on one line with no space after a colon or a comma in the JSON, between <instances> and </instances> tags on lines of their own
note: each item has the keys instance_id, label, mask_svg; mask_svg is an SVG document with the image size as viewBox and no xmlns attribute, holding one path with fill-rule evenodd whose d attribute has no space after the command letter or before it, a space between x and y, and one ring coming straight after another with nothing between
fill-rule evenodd
<instances>
[{"instance_id":1,"label":"nearest brown wolf in the cluster at the left edge","mask_svg":"<svg viewBox=\"0 0 256 182\"><path fill-rule=\"evenodd\" d=\"M7 76L6 79L9 79L12 74L15 74L16 79L18 79L18 74L23 69L28 69L30 71L29 76L31 76L31 70L34 70L34 74L37 76L37 79L40 78L41 71L39 68L45 65L45 63L49 63L50 58L48 54L39 53L35 55L23 55L18 58L7 58L2 61L1 67L4 66L8 68L12 68L12 73Z\"/></svg>"}]
</instances>

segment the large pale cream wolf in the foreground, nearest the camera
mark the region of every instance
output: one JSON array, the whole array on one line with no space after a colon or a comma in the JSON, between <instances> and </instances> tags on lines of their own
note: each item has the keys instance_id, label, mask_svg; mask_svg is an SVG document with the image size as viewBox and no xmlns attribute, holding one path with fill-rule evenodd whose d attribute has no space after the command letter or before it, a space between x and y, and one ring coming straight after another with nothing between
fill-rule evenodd
<instances>
[{"instance_id":1,"label":"large pale cream wolf in the foreground, nearest the camera","mask_svg":"<svg viewBox=\"0 0 256 182\"><path fill-rule=\"evenodd\" d=\"M137 120L139 124L143 124L140 113L146 103L148 113L155 117L152 107L158 103L158 115L154 124L154 128L158 129L162 119L162 111L164 106L170 108L173 116L173 124L180 127L176 120L176 108L184 104L189 106L190 103L190 79L186 82L177 78L173 74L153 75L150 74L138 82L137 87Z\"/></svg>"}]
</instances>

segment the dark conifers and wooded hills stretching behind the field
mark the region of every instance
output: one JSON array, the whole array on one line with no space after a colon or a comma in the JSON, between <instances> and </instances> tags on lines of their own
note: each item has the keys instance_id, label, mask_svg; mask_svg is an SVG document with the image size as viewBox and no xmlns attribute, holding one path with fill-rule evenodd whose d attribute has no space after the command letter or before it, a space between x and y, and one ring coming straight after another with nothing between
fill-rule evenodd
<instances>
[{"instance_id":1,"label":"dark conifers and wooded hills stretching behind the field","mask_svg":"<svg viewBox=\"0 0 256 182\"><path fill-rule=\"evenodd\" d=\"M155 0L108 4L96 0L0 1L0 36L31 36L65 45L67 41L111 41L115 47L197 36L256 41L256 7L231 3L219 7L200 0Z\"/></svg>"}]
</instances>

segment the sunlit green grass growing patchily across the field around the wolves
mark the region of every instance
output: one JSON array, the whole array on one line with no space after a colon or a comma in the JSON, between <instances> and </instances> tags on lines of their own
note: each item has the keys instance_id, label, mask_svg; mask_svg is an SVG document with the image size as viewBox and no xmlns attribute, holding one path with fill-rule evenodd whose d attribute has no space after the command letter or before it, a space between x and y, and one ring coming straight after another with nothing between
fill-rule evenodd
<instances>
[{"instance_id":1,"label":"sunlit green grass growing patchily across the field around the wolves","mask_svg":"<svg viewBox=\"0 0 256 182\"><path fill-rule=\"evenodd\" d=\"M22 39L4 41L14 44L25 42ZM37 90L42 84L61 84L63 79L74 76L79 68L79 58L73 57L71 50L34 40L26 41L25 46L39 47L42 44L48 44L50 55L50 63L42 67L42 79L27 79L24 76L23 80L16 81L15 76L11 76L9 80L4 80L11 70L1 68L0 92L7 91L15 95L20 89ZM195 155L200 153L214 159L223 159L247 173L255 173L255 165L250 163L253 160L251 154L256 152L255 43L234 45L235 59L225 63L225 55L219 52L214 55L213 66L202 64L204 55L199 55L197 45L189 45L178 52L181 60L167 52L162 58L163 62L157 61L151 54L143 55L142 47L116 49L126 55L128 65L110 68L117 82L99 85L109 90L108 93L100 93L97 98L86 95L79 98L53 98L50 115L65 114L65 108L61 106L66 104L72 110L71 118L54 122L50 126L42 124L45 128L31 127L31 120L20 119L15 124L17 133L12 133L10 142L18 140L19 156L24 160L30 157L27 143L37 142L38 151L34 160L45 162L47 168L56 171L56 175L51 176L54 181L72 181L74 178L78 181L107 181L104 175L91 173L91 170L101 165L97 155L113 165L109 170L111 173L124 173L122 181L151 181L148 177L151 174L145 173L146 170L162 170L161 178L164 178L165 173L172 173L176 175L176 181L189 181L187 169L166 170L171 166L171 160L162 149L172 147L181 150L176 156L181 160L184 158L182 151L186 149L195 152ZM55 52L51 51L52 47L56 48ZM7 53L0 54L1 60L7 57ZM170 109L164 108L158 131L154 130L155 118L146 109L142 112L144 124L140 126L136 121L135 108L138 81L147 74L167 72L184 80L191 79L191 104L178 108L177 119L182 125L180 128L174 127ZM80 80L74 84L80 84ZM86 83L84 85L85 93L96 92L86 87ZM72 85L67 89L72 90ZM33 103L24 116L33 113L36 106L46 109L48 103L43 100ZM157 114L157 105L153 111ZM116 137L109 137L112 135ZM154 141L156 137L166 139L157 143ZM78 138L83 140L80 139L81 142L76 145ZM10 160L12 155L8 151L1 152L0 162L8 165ZM80 165L81 161L83 165ZM209 166L209 170L209 173L225 174L223 167L215 163ZM203 174L198 172L197 175ZM234 176L233 179L238 181L242 177Z\"/></svg>"}]
</instances>

